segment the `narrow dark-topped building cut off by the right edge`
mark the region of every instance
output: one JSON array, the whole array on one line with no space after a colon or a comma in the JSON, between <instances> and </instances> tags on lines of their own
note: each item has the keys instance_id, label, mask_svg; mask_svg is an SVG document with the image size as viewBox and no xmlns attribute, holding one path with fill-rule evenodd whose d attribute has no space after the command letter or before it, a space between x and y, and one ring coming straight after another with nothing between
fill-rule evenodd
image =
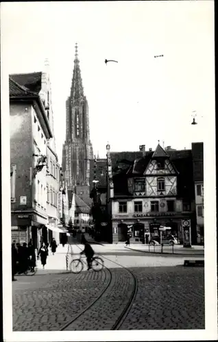
<instances>
[{"instance_id":1,"label":"narrow dark-topped building cut off by the right edge","mask_svg":"<svg viewBox=\"0 0 218 342\"><path fill-rule=\"evenodd\" d=\"M204 145L203 142L191 144L193 157L193 179L195 182L195 205L198 243L204 241Z\"/></svg>"}]
</instances>

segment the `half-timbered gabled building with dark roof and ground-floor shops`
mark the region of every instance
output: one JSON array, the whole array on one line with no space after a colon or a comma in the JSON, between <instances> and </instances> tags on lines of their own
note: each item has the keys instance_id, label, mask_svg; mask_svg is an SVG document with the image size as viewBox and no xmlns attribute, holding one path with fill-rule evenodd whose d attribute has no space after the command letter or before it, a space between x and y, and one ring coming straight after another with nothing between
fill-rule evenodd
<instances>
[{"instance_id":1,"label":"half-timbered gabled building with dark roof and ground-floor shops","mask_svg":"<svg viewBox=\"0 0 218 342\"><path fill-rule=\"evenodd\" d=\"M182 219L196 225L191 150L166 152L158 144L155 151L144 151L133 165L114 174L113 187L113 243L125 241L130 229L131 241L140 243L160 226L170 227L171 234L182 243Z\"/></svg>"}]
</instances>

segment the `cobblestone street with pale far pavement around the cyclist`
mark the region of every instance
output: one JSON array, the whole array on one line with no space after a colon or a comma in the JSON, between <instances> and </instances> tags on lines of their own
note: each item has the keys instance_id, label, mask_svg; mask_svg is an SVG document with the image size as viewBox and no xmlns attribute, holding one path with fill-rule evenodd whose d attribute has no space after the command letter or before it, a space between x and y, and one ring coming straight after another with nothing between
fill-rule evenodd
<instances>
[{"instance_id":1,"label":"cobblestone street with pale far pavement around the cyclist","mask_svg":"<svg viewBox=\"0 0 218 342\"><path fill-rule=\"evenodd\" d=\"M80 245L73 248L80 251ZM56 259L64 262L65 250L59 248L47 269L17 276L12 285L14 331L112 330L134 289L128 269L138 287L120 330L204 329L204 268L183 267L178 257L93 248L102 252L106 267L101 272L85 267L80 274L63 273L64 264L54 269Z\"/></svg>"}]
</instances>

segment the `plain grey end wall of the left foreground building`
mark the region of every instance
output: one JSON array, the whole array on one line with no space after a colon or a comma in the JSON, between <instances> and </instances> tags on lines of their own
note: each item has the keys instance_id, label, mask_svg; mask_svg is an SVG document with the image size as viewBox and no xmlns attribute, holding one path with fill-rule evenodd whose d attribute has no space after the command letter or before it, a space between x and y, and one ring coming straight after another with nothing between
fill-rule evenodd
<instances>
[{"instance_id":1,"label":"plain grey end wall of the left foreground building","mask_svg":"<svg viewBox=\"0 0 218 342\"><path fill-rule=\"evenodd\" d=\"M10 160L16 171L12 176L15 197L11 209L32 208L32 106L10 103ZM14 168L14 169L15 169ZM27 196L27 205L20 205L20 197Z\"/></svg>"}]
</instances>

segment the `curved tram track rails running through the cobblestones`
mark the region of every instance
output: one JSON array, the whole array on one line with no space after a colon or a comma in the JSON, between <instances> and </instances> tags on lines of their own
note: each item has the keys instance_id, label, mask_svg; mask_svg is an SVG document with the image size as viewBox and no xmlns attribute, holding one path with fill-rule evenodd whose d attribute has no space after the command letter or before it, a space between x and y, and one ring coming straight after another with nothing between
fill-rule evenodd
<instances>
[{"instance_id":1,"label":"curved tram track rails running through the cobblestones","mask_svg":"<svg viewBox=\"0 0 218 342\"><path fill-rule=\"evenodd\" d=\"M77 248L79 248L80 250L82 250L80 248L80 246L78 246L78 244L74 244L74 245L77 246ZM121 265L120 263L117 263L116 261L112 261L111 259L108 259L107 257L104 257L104 255L101 255L100 253L97 253L97 254L100 257L102 257L103 259L106 259L106 260L110 261L111 263L118 265L122 269L125 269L128 272L128 274L130 274L130 276L132 277L132 280L133 280L133 290L132 290L132 293L130 295L130 298L128 299L128 303L125 305L125 307L123 308L123 311L117 317L117 319L115 319L115 320L113 319L114 321L112 322L112 327L110 329L107 329L107 330L119 330L119 328L121 328L121 326L123 324L123 321L125 320L125 317L127 317L128 313L130 312L130 309L131 309L132 304L134 302L134 299L136 297L136 293L138 291L138 281L137 281L136 276L134 276L132 271L130 271L130 269L128 269L127 267ZM95 305L97 304L97 302L102 300L102 298L104 298L104 295L107 294L107 291L112 286L112 272L105 265L104 265L104 269L107 269L107 271L110 274L110 280L108 281L108 284L106 285L104 290L101 291L99 296L92 303L90 303L90 305L86 306L86 308L82 312L80 312L75 318L73 318L71 321L68 321L64 326L62 326L62 328L60 328L60 331L66 330L67 328L69 328L69 326L75 324L76 321L78 321L83 315L86 315L86 313L88 313L88 311L92 310L95 307Z\"/></svg>"}]
</instances>

